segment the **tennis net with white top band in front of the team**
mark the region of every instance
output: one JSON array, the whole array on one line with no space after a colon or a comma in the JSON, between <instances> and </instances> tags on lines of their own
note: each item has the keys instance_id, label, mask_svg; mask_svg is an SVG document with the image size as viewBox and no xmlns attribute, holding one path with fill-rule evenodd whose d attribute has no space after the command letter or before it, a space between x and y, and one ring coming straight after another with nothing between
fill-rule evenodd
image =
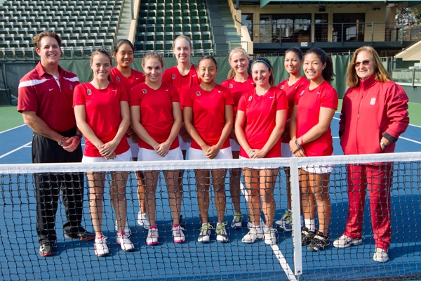
<instances>
[{"instance_id":1,"label":"tennis net with white top band in front of the team","mask_svg":"<svg viewBox=\"0 0 421 281\"><path fill-rule=\"evenodd\" d=\"M375 242L370 223L371 198L367 195L363 211L362 243L346 249L333 247L333 241L345 231L349 195L347 192L347 166L389 165L392 172L391 206L392 240L389 247L389 261L373 261ZM116 279L116 280L415 280L421 279L421 207L420 166L421 153L396 153L389 155L354 155L332 157L307 157L290 159L233 159L183 162L119 162L96 164L7 164L0 165L0 272L4 280L74 280ZM292 186L292 209L300 209L299 168L332 167L328 178L331 219L328 227L330 245L324 251L308 251L301 246L300 223L293 223L293 231L278 230L274 233L276 243L266 244L258 239L254 243L242 242L248 233L247 216L250 213L247 202L247 184L258 183L257 177L241 176L240 207L241 228L231 228L234 216L232 196L229 191L229 177L235 170L250 167L263 170L265 183L274 185L275 221L281 219L287 209L286 184L289 181L285 169L290 168ZM279 169L277 173L276 168ZM218 209L215 194L210 186L208 211L211 229L210 242L198 242L201 233L201 209L196 183L206 181L205 172L218 171L214 181L225 188L226 211L224 221L229 241L219 243L215 238ZM267 176L267 171L278 176ZM126 252L116 244L116 214L111 204L112 191L109 185L112 176L128 172L126 183L127 221L131 230L133 252ZM159 230L159 244L146 244L148 230L139 226L138 180L134 171L144 171L143 176L159 172L156 184L156 226ZM173 171L163 173L162 171ZM173 217L168 200L166 180L178 181L182 176L182 223L184 243L173 241ZM83 226L93 232L89 211L89 188L87 172L105 174L105 195L102 232L108 237L109 255L95 256L93 241L67 240L63 236L65 209L58 204L56 215L57 241L53 257L39 256L39 242L36 234L36 192L37 174L50 175L51 181L63 173L83 173L85 176L85 199L83 202ZM171 175L171 176L169 176ZM199 177L196 178L196 175ZM167 177L166 177L167 176ZM359 174L356 178L367 178ZM372 178L378 180L378 178ZM301 178L302 180L302 178ZM260 185L263 186L263 185ZM222 188L223 189L223 188ZM199 201L199 202L198 202ZM220 204L218 206L221 206ZM271 205L272 206L272 205ZM265 205L262 205L265 207ZM268 208L269 209L269 208ZM300 221L300 212L294 211L293 221ZM262 214L261 218L265 220ZM317 216L316 216L317 218ZM290 222L290 221L289 221ZM317 225L316 219L316 225Z\"/></svg>"}]
</instances>

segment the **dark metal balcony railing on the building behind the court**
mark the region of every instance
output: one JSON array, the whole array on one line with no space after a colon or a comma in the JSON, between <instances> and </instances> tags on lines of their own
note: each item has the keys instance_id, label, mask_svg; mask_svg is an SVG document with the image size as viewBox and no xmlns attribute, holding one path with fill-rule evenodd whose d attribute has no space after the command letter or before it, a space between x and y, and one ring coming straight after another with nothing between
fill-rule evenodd
<instances>
[{"instance_id":1,"label":"dark metal balcony railing on the building behind the court","mask_svg":"<svg viewBox=\"0 0 421 281\"><path fill-rule=\"evenodd\" d=\"M260 43L419 41L421 25L396 22L284 23L248 25Z\"/></svg>"}]
</instances>

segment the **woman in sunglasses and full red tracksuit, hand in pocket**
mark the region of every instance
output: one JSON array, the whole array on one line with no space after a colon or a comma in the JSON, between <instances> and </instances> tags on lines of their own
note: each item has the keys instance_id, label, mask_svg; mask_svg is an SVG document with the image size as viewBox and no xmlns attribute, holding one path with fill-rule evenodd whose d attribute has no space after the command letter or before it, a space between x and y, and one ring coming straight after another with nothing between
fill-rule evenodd
<instances>
[{"instance_id":1,"label":"woman in sunglasses and full red tracksuit, hand in pocket","mask_svg":"<svg viewBox=\"0 0 421 281\"><path fill-rule=\"evenodd\" d=\"M392 81L373 47L363 46L354 52L347 71L347 85L349 89L342 103L339 129L345 155L394 152L396 141L409 123L408 96ZM347 165L347 226L333 246L345 248L362 243L364 200L368 188L375 240L373 259L382 263L389 260L392 176L390 162Z\"/></svg>"}]
</instances>

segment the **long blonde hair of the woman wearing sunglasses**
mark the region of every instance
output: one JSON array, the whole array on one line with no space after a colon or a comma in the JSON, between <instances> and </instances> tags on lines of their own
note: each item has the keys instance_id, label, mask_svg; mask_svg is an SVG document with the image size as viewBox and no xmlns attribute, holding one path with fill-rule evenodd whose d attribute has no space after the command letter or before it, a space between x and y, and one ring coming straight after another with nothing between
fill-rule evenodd
<instances>
[{"instance_id":1,"label":"long blonde hair of the woman wearing sunglasses","mask_svg":"<svg viewBox=\"0 0 421 281\"><path fill-rule=\"evenodd\" d=\"M355 70L355 63L356 63L356 57L361 51L367 51L370 53L371 57L373 58L374 65L375 65L375 81L380 82L387 82L392 80L392 77L390 77L389 72L383 67L382 62L380 61L380 57L377 54L377 51L372 46L362 46L360 48L357 48L354 51L354 55L352 55L351 63L348 65L347 70L347 86L354 88L359 86L359 77L356 74Z\"/></svg>"}]
</instances>

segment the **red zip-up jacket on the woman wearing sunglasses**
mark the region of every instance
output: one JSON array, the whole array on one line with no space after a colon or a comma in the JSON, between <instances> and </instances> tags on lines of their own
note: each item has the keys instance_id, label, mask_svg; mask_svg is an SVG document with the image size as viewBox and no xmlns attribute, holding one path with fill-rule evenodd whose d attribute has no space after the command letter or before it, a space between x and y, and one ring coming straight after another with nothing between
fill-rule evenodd
<instances>
[{"instance_id":1,"label":"red zip-up jacket on the woman wearing sunglasses","mask_svg":"<svg viewBox=\"0 0 421 281\"><path fill-rule=\"evenodd\" d=\"M375 81L375 75L349 88L339 122L345 155L382 153L380 139L391 141L384 152L394 152L396 141L409 124L408 96L393 81Z\"/></svg>"}]
</instances>

